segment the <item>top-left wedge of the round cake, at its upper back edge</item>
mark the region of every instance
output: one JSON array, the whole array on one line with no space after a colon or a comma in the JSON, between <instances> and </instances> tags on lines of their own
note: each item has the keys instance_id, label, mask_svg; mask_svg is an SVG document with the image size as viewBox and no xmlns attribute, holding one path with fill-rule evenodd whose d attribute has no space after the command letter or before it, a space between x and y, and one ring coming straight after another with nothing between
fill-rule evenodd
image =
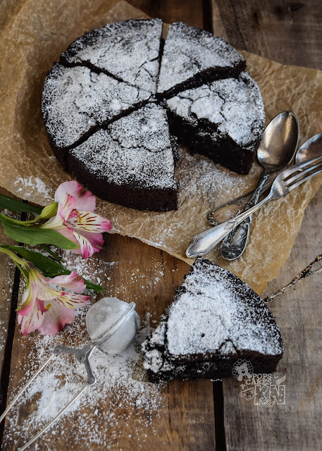
<instances>
[{"instance_id":1,"label":"top-left wedge of the round cake, at its upper back edge","mask_svg":"<svg viewBox=\"0 0 322 451\"><path fill-rule=\"evenodd\" d=\"M162 27L161 19L130 19L105 25L70 44L61 62L103 70L155 94Z\"/></svg>"}]
</instances>

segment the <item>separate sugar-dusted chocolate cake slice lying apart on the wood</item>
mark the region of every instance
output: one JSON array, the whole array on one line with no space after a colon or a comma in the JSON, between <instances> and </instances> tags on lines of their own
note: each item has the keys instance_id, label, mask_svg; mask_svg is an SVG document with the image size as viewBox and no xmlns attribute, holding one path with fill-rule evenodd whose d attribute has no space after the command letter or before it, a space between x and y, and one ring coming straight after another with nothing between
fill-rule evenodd
<instances>
[{"instance_id":1,"label":"separate sugar-dusted chocolate cake slice lying apart on the wood","mask_svg":"<svg viewBox=\"0 0 322 451\"><path fill-rule=\"evenodd\" d=\"M275 371L283 340L249 285L199 257L142 350L151 381L218 379L232 376L240 358L254 373Z\"/></svg>"}]
</instances>

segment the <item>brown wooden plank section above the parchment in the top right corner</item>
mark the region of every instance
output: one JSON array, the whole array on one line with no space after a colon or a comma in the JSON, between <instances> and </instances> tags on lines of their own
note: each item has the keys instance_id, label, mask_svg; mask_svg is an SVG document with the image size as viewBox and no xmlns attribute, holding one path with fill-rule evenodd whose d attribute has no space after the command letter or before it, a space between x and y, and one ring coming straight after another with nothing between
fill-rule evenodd
<instances>
[{"instance_id":1,"label":"brown wooden plank section above the parchment in the top right corner","mask_svg":"<svg viewBox=\"0 0 322 451\"><path fill-rule=\"evenodd\" d=\"M285 64L322 68L321 1L217 0L230 44Z\"/></svg>"}]
</instances>

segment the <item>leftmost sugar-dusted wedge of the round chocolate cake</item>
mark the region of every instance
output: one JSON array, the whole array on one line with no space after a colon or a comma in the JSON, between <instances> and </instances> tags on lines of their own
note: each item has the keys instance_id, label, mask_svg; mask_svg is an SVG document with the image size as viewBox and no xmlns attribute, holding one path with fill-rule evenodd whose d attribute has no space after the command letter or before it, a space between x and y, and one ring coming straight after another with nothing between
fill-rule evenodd
<instances>
[{"instance_id":1,"label":"leftmost sugar-dusted wedge of the round chocolate cake","mask_svg":"<svg viewBox=\"0 0 322 451\"><path fill-rule=\"evenodd\" d=\"M147 102L147 91L86 67L54 63L44 82L42 115L54 149L85 140L92 129Z\"/></svg>"}]
</instances>

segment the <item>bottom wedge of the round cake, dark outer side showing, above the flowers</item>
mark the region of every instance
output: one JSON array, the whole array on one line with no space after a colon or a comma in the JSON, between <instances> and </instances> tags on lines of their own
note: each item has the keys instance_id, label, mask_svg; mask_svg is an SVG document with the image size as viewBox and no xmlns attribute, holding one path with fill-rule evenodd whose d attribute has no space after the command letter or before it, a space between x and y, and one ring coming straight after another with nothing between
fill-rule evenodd
<instances>
[{"instance_id":1,"label":"bottom wedge of the round cake, dark outer side showing, above the flowers","mask_svg":"<svg viewBox=\"0 0 322 451\"><path fill-rule=\"evenodd\" d=\"M177 208L176 155L166 111L151 103L68 151L68 171L101 199L167 211Z\"/></svg>"}]
</instances>

